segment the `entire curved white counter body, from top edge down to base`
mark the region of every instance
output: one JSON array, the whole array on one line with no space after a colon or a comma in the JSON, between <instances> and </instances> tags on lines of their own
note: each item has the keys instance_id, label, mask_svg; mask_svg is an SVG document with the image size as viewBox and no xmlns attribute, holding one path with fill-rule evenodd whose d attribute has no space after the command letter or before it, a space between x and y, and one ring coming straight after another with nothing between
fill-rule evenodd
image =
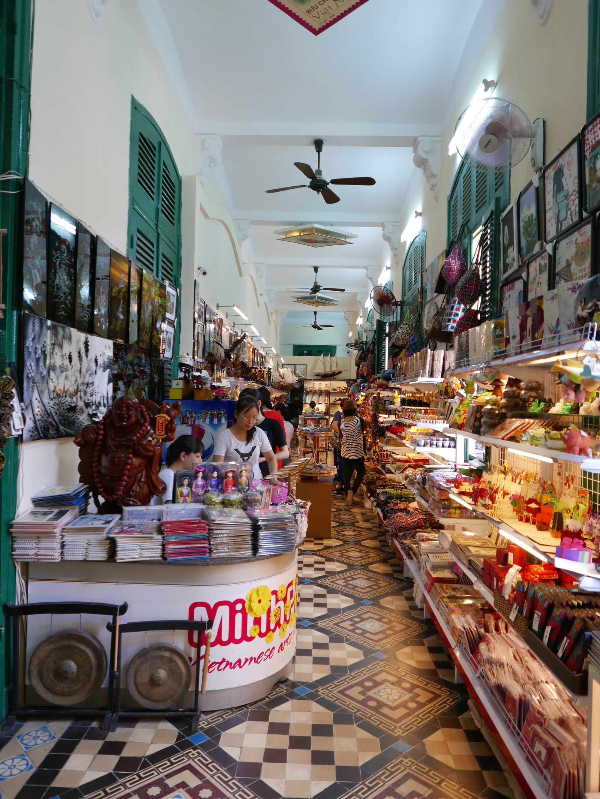
<instances>
[{"instance_id":1,"label":"entire curved white counter body, from top edge down to base","mask_svg":"<svg viewBox=\"0 0 600 799\"><path fill-rule=\"evenodd\" d=\"M200 705L202 711L222 710L264 698L290 674L296 650L296 572L296 550L260 559L185 566L30 562L28 602L128 602L123 622L212 618L209 676ZM78 615L30 617L27 662L48 635L80 626L99 638L108 652L107 620L93 616L80 620ZM123 674L137 651L158 642L178 646L195 666L197 641L192 633L173 634L173 640L169 633L149 633L147 639L143 633L132 633L123 636ZM201 667L203 661L204 640ZM126 694L123 702L130 704Z\"/></svg>"}]
</instances>

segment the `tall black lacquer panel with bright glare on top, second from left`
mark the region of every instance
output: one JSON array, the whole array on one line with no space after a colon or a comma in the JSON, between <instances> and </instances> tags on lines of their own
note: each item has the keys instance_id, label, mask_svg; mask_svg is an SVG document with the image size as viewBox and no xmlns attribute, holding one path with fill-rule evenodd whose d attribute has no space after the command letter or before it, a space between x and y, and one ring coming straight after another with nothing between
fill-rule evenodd
<instances>
[{"instance_id":1,"label":"tall black lacquer panel with bright glare on top, second from left","mask_svg":"<svg viewBox=\"0 0 600 799\"><path fill-rule=\"evenodd\" d=\"M50 203L47 316L72 328L75 321L75 234L77 221Z\"/></svg>"}]
</instances>

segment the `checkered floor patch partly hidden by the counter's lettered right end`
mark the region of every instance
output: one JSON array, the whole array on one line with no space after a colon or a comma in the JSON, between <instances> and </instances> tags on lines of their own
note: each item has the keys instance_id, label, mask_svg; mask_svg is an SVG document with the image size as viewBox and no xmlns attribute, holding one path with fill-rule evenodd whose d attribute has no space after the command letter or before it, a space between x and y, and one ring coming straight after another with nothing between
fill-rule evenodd
<instances>
[{"instance_id":1,"label":"checkered floor patch partly hidden by the counter's lettered right end","mask_svg":"<svg viewBox=\"0 0 600 799\"><path fill-rule=\"evenodd\" d=\"M345 641L332 641L318 630L298 628L294 682L313 682L327 674L348 674L348 666L364 658L363 650Z\"/></svg>"}]
</instances>

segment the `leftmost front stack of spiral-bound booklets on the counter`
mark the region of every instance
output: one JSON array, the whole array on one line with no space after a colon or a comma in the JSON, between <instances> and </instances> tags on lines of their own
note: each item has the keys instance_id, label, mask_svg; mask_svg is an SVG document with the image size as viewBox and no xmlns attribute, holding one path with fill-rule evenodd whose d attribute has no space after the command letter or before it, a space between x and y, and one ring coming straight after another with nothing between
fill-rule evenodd
<instances>
[{"instance_id":1,"label":"leftmost front stack of spiral-bound booklets on the counter","mask_svg":"<svg viewBox=\"0 0 600 799\"><path fill-rule=\"evenodd\" d=\"M69 507L34 508L18 516L10 526L15 561L55 562L62 555L62 531L75 518Z\"/></svg>"}]
</instances>

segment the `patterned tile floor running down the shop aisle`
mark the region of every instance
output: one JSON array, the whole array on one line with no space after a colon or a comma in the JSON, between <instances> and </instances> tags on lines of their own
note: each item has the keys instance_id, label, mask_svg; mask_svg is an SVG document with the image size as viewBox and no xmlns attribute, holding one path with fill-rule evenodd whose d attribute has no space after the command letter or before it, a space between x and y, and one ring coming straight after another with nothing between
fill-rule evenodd
<instances>
[{"instance_id":1,"label":"patterned tile floor running down the shop aisle","mask_svg":"<svg viewBox=\"0 0 600 799\"><path fill-rule=\"evenodd\" d=\"M197 733L28 721L0 733L0 799L514 799L374 515L334 503L299 553L292 678Z\"/></svg>"}]
</instances>

